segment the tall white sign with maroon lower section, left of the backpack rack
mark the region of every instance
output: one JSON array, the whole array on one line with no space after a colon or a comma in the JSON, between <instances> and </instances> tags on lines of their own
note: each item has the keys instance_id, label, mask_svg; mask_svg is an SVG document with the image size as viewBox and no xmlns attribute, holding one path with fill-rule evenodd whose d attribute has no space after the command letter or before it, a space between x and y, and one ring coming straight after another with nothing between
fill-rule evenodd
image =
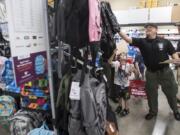
<instances>
[{"instance_id":1,"label":"tall white sign with maroon lower section, left of the backpack rack","mask_svg":"<svg viewBox=\"0 0 180 135\"><path fill-rule=\"evenodd\" d=\"M17 85L47 74L48 33L44 0L6 0Z\"/></svg>"}]
</instances>

